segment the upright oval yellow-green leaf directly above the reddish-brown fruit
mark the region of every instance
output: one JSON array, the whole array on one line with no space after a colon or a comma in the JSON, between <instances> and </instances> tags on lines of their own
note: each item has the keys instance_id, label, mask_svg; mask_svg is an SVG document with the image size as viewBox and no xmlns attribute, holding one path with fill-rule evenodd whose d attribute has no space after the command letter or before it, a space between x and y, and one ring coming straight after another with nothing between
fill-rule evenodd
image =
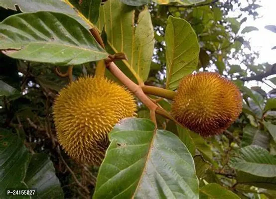
<instances>
[{"instance_id":1,"label":"upright oval yellow-green leaf directly above the reddish-brown fruit","mask_svg":"<svg viewBox=\"0 0 276 199\"><path fill-rule=\"evenodd\" d=\"M192 26L172 16L167 21L165 42L166 88L175 90L180 80L196 69L200 48Z\"/></svg>"}]
</instances>

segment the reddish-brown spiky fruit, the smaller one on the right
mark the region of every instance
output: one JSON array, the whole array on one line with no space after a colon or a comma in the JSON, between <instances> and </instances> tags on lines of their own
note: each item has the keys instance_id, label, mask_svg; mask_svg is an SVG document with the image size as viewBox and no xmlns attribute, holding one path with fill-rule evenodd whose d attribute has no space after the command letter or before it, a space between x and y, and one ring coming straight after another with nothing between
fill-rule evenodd
<instances>
[{"instance_id":1,"label":"reddish-brown spiky fruit, the smaller one on the right","mask_svg":"<svg viewBox=\"0 0 276 199\"><path fill-rule=\"evenodd\" d=\"M179 123L207 137L222 133L241 111L242 96L234 83L218 73L201 72L181 80L171 113Z\"/></svg>"}]
</instances>

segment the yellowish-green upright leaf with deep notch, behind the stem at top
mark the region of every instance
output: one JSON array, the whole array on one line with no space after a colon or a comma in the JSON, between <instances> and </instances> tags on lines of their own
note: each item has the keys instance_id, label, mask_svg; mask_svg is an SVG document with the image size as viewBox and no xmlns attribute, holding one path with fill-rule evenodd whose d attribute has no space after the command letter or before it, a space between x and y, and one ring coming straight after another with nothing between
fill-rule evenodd
<instances>
[{"instance_id":1,"label":"yellowish-green upright leaf with deep notch, behind the stem at top","mask_svg":"<svg viewBox=\"0 0 276 199\"><path fill-rule=\"evenodd\" d=\"M109 0L100 9L97 26L104 28L108 44L115 53L124 52L125 66L139 83L148 77L154 47L154 33L149 10L145 7L134 24L134 7L120 0Z\"/></svg>"}]
</instances>

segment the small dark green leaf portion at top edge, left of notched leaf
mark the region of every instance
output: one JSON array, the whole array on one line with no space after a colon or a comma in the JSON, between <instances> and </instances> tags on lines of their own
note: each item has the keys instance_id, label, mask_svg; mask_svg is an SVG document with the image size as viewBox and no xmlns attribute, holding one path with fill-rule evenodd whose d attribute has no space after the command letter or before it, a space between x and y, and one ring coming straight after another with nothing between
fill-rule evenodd
<instances>
[{"instance_id":1,"label":"small dark green leaf portion at top edge, left of notched leaf","mask_svg":"<svg viewBox=\"0 0 276 199\"><path fill-rule=\"evenodd\" d=\"M100 5L101 5L102 0L69 0L69 1L91 23L97 23L97 21L99 19Z\"/></svg>"}]
</instances>

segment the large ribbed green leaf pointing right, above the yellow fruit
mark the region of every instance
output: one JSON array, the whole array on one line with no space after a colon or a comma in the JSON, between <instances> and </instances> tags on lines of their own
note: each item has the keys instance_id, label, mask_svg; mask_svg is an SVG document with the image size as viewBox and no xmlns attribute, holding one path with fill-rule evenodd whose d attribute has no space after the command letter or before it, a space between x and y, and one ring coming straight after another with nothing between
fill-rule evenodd
<instances>
[{"instance_id":1,"label":"large ribbed green leaf pointing right, above the yellow fruit","mask_svg":"<svg viewBox=\"0 0 276 199\"><path fill-rule=\"evenodd\" d=\"M108 57L75 19L55 12L12 15L0 23L0 49L7 56L55 65L77 65Z\"/></svg>"}]
</instances>

